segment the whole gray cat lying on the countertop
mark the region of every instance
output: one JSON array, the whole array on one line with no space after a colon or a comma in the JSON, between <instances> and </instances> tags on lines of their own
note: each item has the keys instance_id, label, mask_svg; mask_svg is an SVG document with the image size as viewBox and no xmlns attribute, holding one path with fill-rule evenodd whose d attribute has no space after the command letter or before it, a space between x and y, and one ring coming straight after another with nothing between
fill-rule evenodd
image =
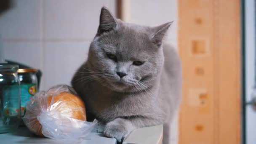
<instances>
[{"instance_id":1,"label":"whole gray cat lying on the countertop","mask_svg":"<svg viewBox=\"0 0 256 144\"><path fill-rule=\"evenodd\" d=\"M104 125L105 136L120 142L135 128L163 124L163 143L170 143L170 123L181 95L179 57L162 44L171 23L129 24L101 8L88 60L72 86L85 101L88 119Z\"/></svg>"}]
</instances>

